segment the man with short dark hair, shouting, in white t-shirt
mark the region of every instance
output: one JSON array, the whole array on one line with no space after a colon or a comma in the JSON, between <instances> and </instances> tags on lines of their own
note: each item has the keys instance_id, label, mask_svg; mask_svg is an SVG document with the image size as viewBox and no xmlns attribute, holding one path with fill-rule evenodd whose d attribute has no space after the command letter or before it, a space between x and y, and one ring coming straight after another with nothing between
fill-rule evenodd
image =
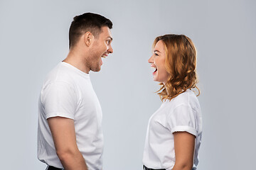
<instances>
[{"instance_id":1,"label":"man with short dark hair, shouting, in white t-shirt","mask_svg":"<svg viewBox=\"0 0 256 170\"><path fill-rule=\"evenodd\" d=\"M70 52L47 76L38 103L38 159L47 169L102 169L102 111L89 72L112 53L112 22L95 13L75 16Z\"/></svg>"}]
</instances>

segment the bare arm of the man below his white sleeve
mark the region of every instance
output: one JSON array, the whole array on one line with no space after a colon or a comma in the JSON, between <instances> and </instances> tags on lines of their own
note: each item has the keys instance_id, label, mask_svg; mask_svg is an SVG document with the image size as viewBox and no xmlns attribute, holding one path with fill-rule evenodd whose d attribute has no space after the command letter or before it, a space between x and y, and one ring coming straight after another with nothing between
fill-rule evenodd
<instances>
[{"instance_id":1,"label":"bare arm of the man below his white sleeve","mask_svg":"<svg viewBox=\"0 0 256 170\"><path fill-rule=\"evenodd\" d=\"M87 170L85 159L78 150L74 120L62 117L48 118L48 125L60 162L65 170Z\"/></svg>"}]
</instances>

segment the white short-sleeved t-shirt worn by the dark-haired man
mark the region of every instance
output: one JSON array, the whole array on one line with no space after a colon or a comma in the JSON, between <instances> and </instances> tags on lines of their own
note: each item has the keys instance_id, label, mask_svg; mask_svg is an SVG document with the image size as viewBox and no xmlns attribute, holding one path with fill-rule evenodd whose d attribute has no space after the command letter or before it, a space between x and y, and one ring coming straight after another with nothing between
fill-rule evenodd
<instances>
[{"instance_id":1,"label":"white short-sleeved t-shirt worn by the dark-haired man","mask_svg":"<svg viewBox=\"0 0 256 170\"><path fill-rule=\"evenodd\" d=\"M89 74L60 62L46 78L38 103L38 159L62 168L47 119L55 116L74 120L78 149L88 169L102 169L102 110Z\"/></svg>"}]
</instances>

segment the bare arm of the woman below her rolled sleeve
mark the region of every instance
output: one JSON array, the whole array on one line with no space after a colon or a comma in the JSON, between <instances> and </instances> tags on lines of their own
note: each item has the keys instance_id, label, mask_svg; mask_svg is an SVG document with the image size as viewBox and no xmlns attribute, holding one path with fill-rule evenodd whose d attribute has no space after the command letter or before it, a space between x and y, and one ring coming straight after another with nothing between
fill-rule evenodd
<instances>
[{"instance_id":1,"label":"bare arm of the woman below her rolled sleeve","mask_svg":"<svg viewBox=\"0 0 256 170\"><path fill-rule=\"evenodd\" d=\"M174 132L176 161L172 170L191 170L195 149L195 136L188 132Z\"/></svg>"}]
</instances>

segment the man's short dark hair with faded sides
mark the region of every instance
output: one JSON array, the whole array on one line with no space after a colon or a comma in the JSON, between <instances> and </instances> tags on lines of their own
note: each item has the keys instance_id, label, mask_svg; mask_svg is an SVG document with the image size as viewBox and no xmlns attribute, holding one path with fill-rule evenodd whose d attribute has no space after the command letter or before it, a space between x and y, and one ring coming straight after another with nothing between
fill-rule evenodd
<instances>
[{"instance_id":1,"label":"man's short dark hair with faded sides","mask_svg":"<svg viewBox=\"0 0 256 170\"><path fill-rule=\"evenodd\" d=\"M69 30L69 47L73 47L84 33L90 32L97 38L103 26L111 29L112 25L110 19L97 13L83 13L75 16Z\"/></svg>"}]
</instances>

